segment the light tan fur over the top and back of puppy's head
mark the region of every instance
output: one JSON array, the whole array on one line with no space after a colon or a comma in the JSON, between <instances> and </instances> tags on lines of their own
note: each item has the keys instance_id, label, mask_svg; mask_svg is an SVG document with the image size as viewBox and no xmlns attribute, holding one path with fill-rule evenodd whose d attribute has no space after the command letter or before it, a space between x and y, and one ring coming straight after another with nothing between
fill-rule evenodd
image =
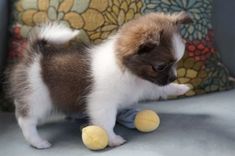
<instances>
[{"instance_id":1,"label":"light tan fur over the top and back of puppy's head","mask_svg":"<svg viewBox=\"0 0 235 156\"><path fill-rule=\"evenodd\" d=\"M170 39L169 35L178 29L177 24L183 23L184 20L189 21L190 17L186 17L188 16L185 13L173 15L150 13L126 23L118 35L116 49L119 59L136 53L139 46L146 42L159 44L161 31L164 32L165 38Z\"/></svg>"}]
</instances>

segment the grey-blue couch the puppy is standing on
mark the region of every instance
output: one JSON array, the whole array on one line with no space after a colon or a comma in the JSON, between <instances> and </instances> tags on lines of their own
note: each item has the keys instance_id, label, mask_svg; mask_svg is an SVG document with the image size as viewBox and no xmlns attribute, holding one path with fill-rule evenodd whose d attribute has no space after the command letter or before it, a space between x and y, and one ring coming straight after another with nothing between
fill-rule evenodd
<instances>
[{"instance_id":1,"label":"grey-blue couch the puppy is standing on","mask_svg":"<svg viewBox=\"0 0 235 156\"><path fill-rule=\"evenodd\" d=\"M0 65L3 69L7 44L8 0L0 1ZM224 64L235 75L235 1L214 0L213 24ZM40 133L54 146L36 150L25 142L14 114L0 113L0 155L149 155L149 156L234 156L235 90L192 98L141 103L137 107L156 110L160 127L140 133L117 125L115 130L128 142L120 147L93 152L81 141L80 125L56 121L40 126Z\"/></svg>"}]
</instances>

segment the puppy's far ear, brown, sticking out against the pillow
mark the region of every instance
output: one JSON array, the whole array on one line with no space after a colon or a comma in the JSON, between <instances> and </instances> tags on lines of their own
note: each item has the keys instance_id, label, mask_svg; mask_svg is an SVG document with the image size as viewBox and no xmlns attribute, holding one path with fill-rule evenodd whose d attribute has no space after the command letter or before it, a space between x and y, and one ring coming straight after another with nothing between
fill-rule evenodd
<instances>
[{"instance_id":1,"label":"puppy's far ear, brown, sticking out against the pillow","mask_svg":"<svg viewBox=\"0 0 235 156\"><path fill-rule=\"evenodd\" d=\"M181 11L177 14L174 14L172 16L172 18L173 18L173 22L176 25L193 23L192 17L188 13L186 13L185 11Z\"/></svg>"}]
</instances>

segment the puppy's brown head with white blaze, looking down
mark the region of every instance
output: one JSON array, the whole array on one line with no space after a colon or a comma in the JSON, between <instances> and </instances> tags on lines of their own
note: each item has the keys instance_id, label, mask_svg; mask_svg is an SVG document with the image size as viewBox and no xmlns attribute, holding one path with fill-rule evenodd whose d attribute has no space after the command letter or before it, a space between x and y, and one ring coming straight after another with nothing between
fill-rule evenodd
<instances>
[{"instance_id":1,"label":"puppy's brown head with white blaze, looking down","mask_svg":"<svg viewBox=\"0 0 235 156\"><path fill-rule=\"evenodd\" d=\"M125 24L118 33L120 65L160 86L176 80L176 63L183 57L185 43L179 26L191 23L185 13L151 13Z\"/></svg>"}]
</instances>

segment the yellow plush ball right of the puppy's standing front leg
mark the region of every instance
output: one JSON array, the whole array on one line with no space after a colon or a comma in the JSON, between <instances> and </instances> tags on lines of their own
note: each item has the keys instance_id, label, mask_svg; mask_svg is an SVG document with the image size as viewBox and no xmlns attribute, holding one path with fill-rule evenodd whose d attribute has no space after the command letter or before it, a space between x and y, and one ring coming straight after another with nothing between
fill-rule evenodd
<instances>
[{"instance_id":1,"label":"yellow plush ball right of the puppy's standing front leg","mask_svg":"<svg viewBox=\"0 0 235 156\"><path fill-rule=\"evenodd\" d=\"M160 125L160 118L152 110L138 112L135 116L135 127L141 132L151 132Z\"/></svg>"}]
</instances>

